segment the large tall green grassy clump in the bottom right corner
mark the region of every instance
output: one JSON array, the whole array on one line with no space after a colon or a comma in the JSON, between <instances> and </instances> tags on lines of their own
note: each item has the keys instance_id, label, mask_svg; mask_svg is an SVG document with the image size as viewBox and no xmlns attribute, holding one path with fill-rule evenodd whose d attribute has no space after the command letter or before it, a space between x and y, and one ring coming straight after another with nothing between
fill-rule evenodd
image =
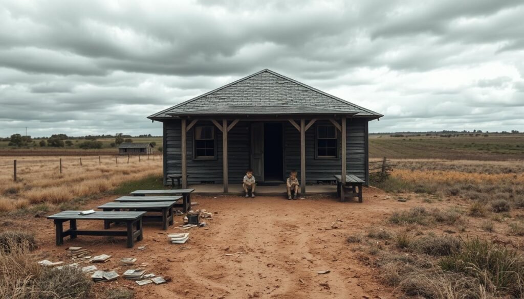
<instances>
[{"instance_id":1,"label":"large tall green grassy clump in the bottom right corner","mask_svg":"<svg viewBox=\"0 0 524 299\"><path fill-rule=\"evenodd\" d=\"M474 238L440 260L444 271L462 273L477 279L486 289L517 297L524 290L524 257L491 241Z\"/></svg>"}]
</instances>

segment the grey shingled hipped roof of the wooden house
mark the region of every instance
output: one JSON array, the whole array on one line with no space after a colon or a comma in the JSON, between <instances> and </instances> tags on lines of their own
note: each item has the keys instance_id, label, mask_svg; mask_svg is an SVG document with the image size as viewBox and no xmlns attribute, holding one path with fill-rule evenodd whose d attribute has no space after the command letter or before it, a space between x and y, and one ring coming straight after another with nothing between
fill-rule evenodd
<instances>
[{"instance_id":1,"label":"grey shingled hipped roof of the wooden house","mask_svg":"<svg viewBox=\"0 0 524 299\"><path fill-rule=\"evenodd\" d=\"M190 115L337 114L383 115L270 70L262 70L148 116L164 120Z\"/></svg>"}]
</instances>

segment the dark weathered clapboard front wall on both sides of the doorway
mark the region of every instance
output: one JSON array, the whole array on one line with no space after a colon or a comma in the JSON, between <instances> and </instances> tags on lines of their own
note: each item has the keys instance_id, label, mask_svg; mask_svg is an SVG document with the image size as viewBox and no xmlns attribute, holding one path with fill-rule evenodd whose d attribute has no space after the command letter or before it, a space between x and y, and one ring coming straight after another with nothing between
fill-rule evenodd
<instances>
[{"instance_id":1,"label":"dark weathered clapboard front wall on both sides of the doorway","mask_svg":"<svg viewBox=\"0 0 524 299\"><path fill-rule=\"evenodd\" d=\"M308 120L309 121L309 120ZM291 170L297 170L300 178L300 133L289 121L282 121L284 134L284 169L286 176ZM315 131L317 125L331 124L329 121L317 121L305 134L306 140L306 180L316 183L321 180L333 180L334 174L341 173L341 145L339 157L335 159L315 159ZM213 125L211 122L199 121L197 126ZM250 164L250 124L239 121L228 132L228 176L230 184L241 183L245 170ZM367 182L367 120L351 119L346 121L347 173L355 174ZM180 120L165 121L164 129L164 183L167 174L181 173L181 122ZM187 173L189 184L201 182L223 181L222 167L222 132L215 127L216 159L193 159L193 128L187 133ZM339 143L341 142L340 132Z\"/></svg>"}]
</instances>

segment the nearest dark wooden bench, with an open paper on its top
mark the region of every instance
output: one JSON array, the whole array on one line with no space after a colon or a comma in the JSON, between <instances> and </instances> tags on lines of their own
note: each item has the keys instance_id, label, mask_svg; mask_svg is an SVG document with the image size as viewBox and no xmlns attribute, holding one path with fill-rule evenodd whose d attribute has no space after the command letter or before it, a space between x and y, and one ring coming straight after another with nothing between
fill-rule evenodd
<instances>
[{"instance_id":1,"label":"nearest dark wooden bench, with an open paper on its top","mask_svg":"<svg viewBox=\"0 0 524 299\"><path fill-rule=\"evenodd\" d=\"M146 212L102 212L97 211L89 215L78 215L80 211L62 211L48 216L47 219L54 220L56 228L56 245L63 244L63 238L70 236L71 239L77 236L122 236L127 237L127 248L132 248L135 239L141 241L142 217ZM124 230L79 230L77 220L110 220L124 222L127 229ZM69 229L63 230L63 223L69 221Z\"/></svg>"}]
</instances>

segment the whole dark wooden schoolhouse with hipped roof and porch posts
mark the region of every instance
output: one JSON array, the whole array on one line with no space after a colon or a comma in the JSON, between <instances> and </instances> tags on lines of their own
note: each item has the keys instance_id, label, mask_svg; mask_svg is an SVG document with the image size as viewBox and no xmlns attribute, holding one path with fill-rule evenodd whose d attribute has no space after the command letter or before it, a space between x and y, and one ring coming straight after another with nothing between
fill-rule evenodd
<instances>
[{"instance_id":1,"label":"whole dark wooden schoolhouse with hipped roof and porch posts","mask_svg":"<svg viewBox=\"0 0 524 299\"><path fill-rule=\"evenodd\" d=\"M163 175L188 184L306 184L354 174L369 182L368 122L383 115L262 70L148 116L163 123ZM344 180L344 179L343 179Z\"/></svg>"}]
</instances>

